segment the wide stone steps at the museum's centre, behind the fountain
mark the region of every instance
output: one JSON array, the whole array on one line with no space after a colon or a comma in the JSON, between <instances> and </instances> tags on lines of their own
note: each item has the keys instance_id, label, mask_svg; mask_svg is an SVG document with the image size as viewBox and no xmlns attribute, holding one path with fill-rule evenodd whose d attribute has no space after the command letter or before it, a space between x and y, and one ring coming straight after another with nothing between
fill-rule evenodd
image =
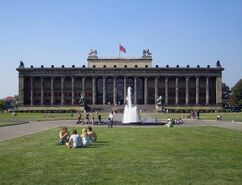
<instances>
[{"instance_id":1,"label":"wide stone steps at the museum's centre, behind the fountain","mask_svg":"<svg viewBox=\"0 0 242 185\"><path fill-rule=\"evenodd\" d=\"M111 111L117 111L117 112L123 112L124 105L86 105L85 109L87 112L111 112ZM143 112L154 112L155 111L155 105L138 105L137 110L142 110Z\"/></svg>"}]
</instances>

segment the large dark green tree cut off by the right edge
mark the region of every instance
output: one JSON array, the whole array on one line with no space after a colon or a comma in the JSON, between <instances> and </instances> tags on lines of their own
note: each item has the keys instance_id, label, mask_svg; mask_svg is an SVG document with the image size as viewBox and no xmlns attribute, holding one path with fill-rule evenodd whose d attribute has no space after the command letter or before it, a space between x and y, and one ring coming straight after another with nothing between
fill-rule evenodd
<instances>
[{"instance_id":1,"label":"large dark green tree cut off by the right edge","mask_svg":"<svg viewBox=\"0 0 242 185\"><path fill-rule=\"evenodd\" d=\"M242 105L242 79L240 79L232 88L232 94L229 98L231 105Z\"/></svg>"}]
</instances>

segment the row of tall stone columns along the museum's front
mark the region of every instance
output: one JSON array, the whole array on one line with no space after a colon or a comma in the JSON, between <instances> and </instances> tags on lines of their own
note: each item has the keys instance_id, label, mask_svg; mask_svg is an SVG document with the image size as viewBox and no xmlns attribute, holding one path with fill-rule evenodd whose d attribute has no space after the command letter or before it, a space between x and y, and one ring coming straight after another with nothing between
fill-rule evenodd
<instances>
[{"instance_id":1,"label":"row of tall stone columns along the museum's front","mask_svg":"<svg viewBox=\"0 0 242 185\"><path fill-rule=\"evenodd\" d=\"M24 101L25 100L29 100L28 104L29 105L34 105L34 100L35 100L35 95L34 95L34 78L40 78L40 87L38 89L40 89L40 102L39 104L40 105L44 105L44 101L45 101L45 97L44 97L44 93L45 93L45 88L44 88L44 83L45 83L45 79L48 78L48 77L30 77L30 78L24 78L24 77L19 77L19 98L20 98L20 103L21 101L23 103L25 103ZM54 84L55 84L55 77L49 77L50 78L50 105L55 105L55 88L54 88ZM61 80L61 84L60 84L60 105L65 105L65 81L66 81L66 78L67 77L59 77ZM69 105L75 105L76 104L76 89L75 87L77 86L76 84L76 78L75 76L72 76L72 77L68 77L68 78L71 78L71 102L69 103ZM79 78L79 77L78 77ZM138 91L140 89L137 88L137 81L138 79L141 79L142 78L142 86L143 86L143 92L142 92L142 95L143 95L143 104L148 104L148 79L149 78L152 78L154 81L154 102L156 101L156 99L160 96L160 92L159 92L159 85L158 85L158 82L160 80L160 78L164 79L164 97L163 98L163 104L165 105L168 105L169 104L169 80L170 78L175 78L175 105L179 105L179 78L181 77L168 77L168 76L161 76L161 77L135 77L135 76L124 76L124 77L102 77L102 76L86 76L86 77L80 77L81 78L81 84L78 84L80 86L80 89L81 89L81 93L85 96L86 95L86 85L87 83L91 83L91 86L92 86L92 93L91 93L91 97L89 97L91 99L91 103L90 104L97 104L97 94L98 94L98 88L97 88L97 79L101 80L102 81L102 101L101 101L101 104L106 104L107 103L107 79L109 78L112 78L112 92L113 92L113 100L112 100L112 104L117 104L117 79L119 78L122 78L122 85L123 85L123 100L125 102L125 97L126 97L126 90L127 90L127 79L129 78L132 78L133 80L133 90L132 90L132 94L133 94L133 103L134 104L137 104L137 96L138 96ZM89 79L87 81L87 78ZM185 105L189 105L189 80L191 77L189 76L183 76L182 78L185 78ZM193 76L192 78L195 78L195 89L196 89L196 95L195 95L195 103L197 105L199 105L199 91L200 91L200 88L199 88L199 83L200 83L200 78L199 76ZM206 99L206 105L209 105L210 104L210 86L209 86L209 83L210 83L210 77L203 77L203 78L206 78L206 83L205 83L205 92L206 92L206 95L205 95L205 99ZM91 80L90 80L91 79ZM29 88L24 88L24 85L25 84L28 84L28 83L25 83L25 80L29 80ZM90 85L90 84L89 84ZM215 79L215 86L216 86L216 100L215 100L215 103L216 104L220 104L221 103L221 100L222 100L222 79L220 76L217 76L216 79ZM28 96L28 93L24 92L24 91L29 91L29 96L30 97L26 97ZM28 99L29 98L29 99ZM79 98L79 97L78 97ZM100 104L100 103L99 103Z\"/></svg>"}]
</instances>

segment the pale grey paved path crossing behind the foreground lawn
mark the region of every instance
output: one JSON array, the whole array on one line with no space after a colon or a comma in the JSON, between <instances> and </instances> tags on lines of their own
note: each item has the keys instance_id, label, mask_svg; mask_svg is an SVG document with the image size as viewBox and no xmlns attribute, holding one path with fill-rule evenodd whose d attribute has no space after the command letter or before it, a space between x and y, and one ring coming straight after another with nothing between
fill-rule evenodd
<instances>
[{"instance_id":1,"label":"pale grey paved path crossing behind the foreground lawn","mask_svg":"<svg viewBox=\"0 0 242 185\"><path fill-rule=\"evenodd\" d=\"M62 120L62 121L44 121L44 122L30 122L27 124L0 127L0 142L8 139L13 139L51 128L67 126L67 127L84 127L84 125L76 125L75 120ZM106 125L101 125L103 127ZM115 127L157 127L157 126L129 126L129 125L114 125ZM181 126L217 126L229 129L236 129L242 131L241 122L229 121L201 121L201 120L185 120L185 124ZM94 127L100 127L95 125Z\"/></svg>"}]
</instances>

